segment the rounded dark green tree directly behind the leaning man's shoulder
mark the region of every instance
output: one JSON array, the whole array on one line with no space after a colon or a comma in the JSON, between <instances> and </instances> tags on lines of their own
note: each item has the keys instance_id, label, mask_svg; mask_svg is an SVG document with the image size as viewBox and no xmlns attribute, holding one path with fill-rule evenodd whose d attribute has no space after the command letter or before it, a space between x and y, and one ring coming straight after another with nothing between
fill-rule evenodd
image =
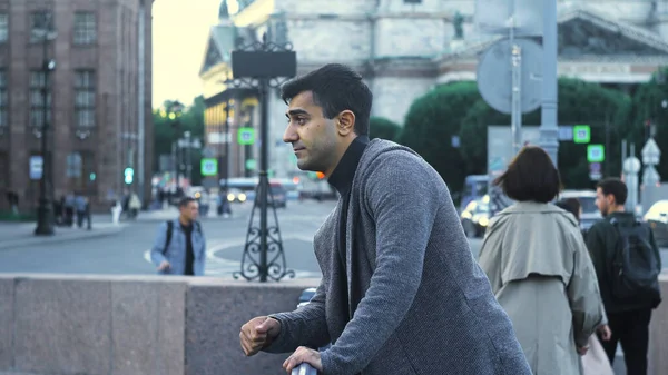
<instances>
[{"instance_id":1,"label":"rounded dark green tree directly behind the leaning man's shoulder","mask_svg":"<svg viewBox=\"0 0 668 375\"><path fill-rule=\"evenodd\" d=\"M475 82L440 86L418 98L409 109L400 142L419 152L441 175L452 191L459 191L466 176L463 159L452 146L469 107L480 93Z\"/></svg>"}]
</instances>

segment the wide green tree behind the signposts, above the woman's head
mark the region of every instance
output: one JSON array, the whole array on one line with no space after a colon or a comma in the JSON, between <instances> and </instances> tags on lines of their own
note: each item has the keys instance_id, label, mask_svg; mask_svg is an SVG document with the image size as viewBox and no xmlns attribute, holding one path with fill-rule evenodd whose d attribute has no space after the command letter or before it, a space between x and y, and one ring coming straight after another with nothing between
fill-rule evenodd
<instances>
[{"instance_id":1,"label":"wide green tree behind the signposts, above the woman's head","mask_svg":"<svg viewBox=\"0 0 668 375\"><path fill-rule=\"evenodd\" d=\"M602 165L605 175L620 174L620 140L629 131L628 118L631 101L620 91L601 87L598 83L576 79L559 80L558 119L560 125L589 125L590 144L601 144L607 148ZM466 160L468 174L487 172L487 127L510 124L510 116L490 108L482 99L470 106L462 120L460 131L462 156ZM540 109L522 116L522 124L540 125ZM561 141L559 145L559 170L567 188L591 188L587 145Z\"/></svg>"}]
</instances>

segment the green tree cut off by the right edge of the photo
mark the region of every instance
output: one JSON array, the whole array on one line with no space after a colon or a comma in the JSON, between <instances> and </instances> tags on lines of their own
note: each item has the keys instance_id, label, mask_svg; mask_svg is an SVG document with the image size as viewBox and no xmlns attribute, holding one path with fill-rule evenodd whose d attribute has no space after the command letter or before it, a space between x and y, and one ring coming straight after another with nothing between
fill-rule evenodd
<instances>
[{"instance_id":1,"label":"green tree cut off by the right edge of the photo","mask_svg":"<svg viewBox=\"0 0 668 375\"><path fill-rule=\"evenodd\" d=\"M662 179L668 177L668 86L666 85L668 68L662 68L647 83L641 85L633 95L633 109L629 121L628 140L636 144L636 152L640 150L649 137L651 128L656 129L654 139L661 150L659 165L656 167Z\"/></svg>"}]
</instances>

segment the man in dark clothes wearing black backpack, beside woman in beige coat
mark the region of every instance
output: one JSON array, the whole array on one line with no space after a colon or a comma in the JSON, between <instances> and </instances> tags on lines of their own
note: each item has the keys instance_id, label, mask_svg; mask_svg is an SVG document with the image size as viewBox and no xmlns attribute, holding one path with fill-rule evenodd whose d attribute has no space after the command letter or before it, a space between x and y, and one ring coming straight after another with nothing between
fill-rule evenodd
<instances>
[{"instance_id":1,"label":"man in dark clothes wearing black backpack, beside woman in beige coat","mask_svg":"<svg viewBox=\"0 0 668 375\"><path fill-rule=\"evenodd\" d=\"M617 178L597 186L596 205L605 219L587 234L612 336L602 345L610 363L621 344L628 374L647 374L649 320L661 302L661 258L651 229L625 211L626 185Z\"/></svg>"}]
</instances>

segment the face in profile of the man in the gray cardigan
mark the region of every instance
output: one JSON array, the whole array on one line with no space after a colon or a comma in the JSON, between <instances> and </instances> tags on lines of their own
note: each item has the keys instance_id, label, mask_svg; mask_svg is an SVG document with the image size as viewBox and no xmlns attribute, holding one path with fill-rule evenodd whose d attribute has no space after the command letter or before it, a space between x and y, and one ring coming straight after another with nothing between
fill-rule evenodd
<instances>
[{"instance_id":1,"label":"face in profile of the man in the gray cardigan","mask_svg":"<svg viewBox=\"0 0 668 375\"><path fill-rule=\"evenodd\" d=\"M302 170L326 171L336 166L338 134L335 119L327 119L313 102L311 91L303 91L289 101L287 128L283 141L292 144L297 167Z\"/></svg>"}]
</instances>

